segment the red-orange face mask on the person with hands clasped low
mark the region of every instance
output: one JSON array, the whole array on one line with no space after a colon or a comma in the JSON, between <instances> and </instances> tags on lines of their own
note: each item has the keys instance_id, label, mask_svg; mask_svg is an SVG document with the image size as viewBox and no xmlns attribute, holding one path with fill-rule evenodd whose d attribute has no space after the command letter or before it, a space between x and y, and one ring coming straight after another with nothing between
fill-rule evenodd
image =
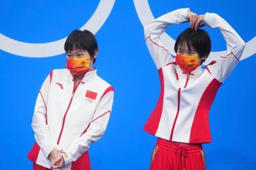
<instances>
[{"instance_id":1,"label":"red-orange face mask on the person with hands clasped low","mask_svg":"<svg viewBox=\"0 0 256 170\"><path fill-rule=\"evenodd\" d=\"M91 59L67 59L66 68L75 76L81 76L90 68L89 60Z\"/></svg>"}]
</instances>

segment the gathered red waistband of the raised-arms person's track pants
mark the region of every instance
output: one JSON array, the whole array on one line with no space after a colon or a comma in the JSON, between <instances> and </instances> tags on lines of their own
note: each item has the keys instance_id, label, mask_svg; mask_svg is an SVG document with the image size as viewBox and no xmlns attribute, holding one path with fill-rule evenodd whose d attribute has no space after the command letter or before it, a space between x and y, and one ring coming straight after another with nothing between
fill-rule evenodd
<instances>
[{"instance_id":1,"label":"gathered red waistband of the raised-arms person's track pants","mask_svg":"<svg viewBox=\"0 0 256 170\"><path fill-rule=\"evenodd\" d=\"M172 152L180 153L181 150L186 150L186 153L198 152L203 150L202 144L189 144L189 143L179 143L173 141L167 141L166 139L157 139L157 146L170 150Z\"/></svg>"}]
</instances>

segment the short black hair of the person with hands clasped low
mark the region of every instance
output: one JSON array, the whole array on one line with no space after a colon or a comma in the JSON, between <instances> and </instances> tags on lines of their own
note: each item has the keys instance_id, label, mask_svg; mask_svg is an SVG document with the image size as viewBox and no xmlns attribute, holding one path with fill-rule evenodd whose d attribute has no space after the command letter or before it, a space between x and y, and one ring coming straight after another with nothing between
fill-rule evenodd
<instances>
[{"instance_id":1,"label":"short black hair of the person with hands clasped low","mask_svg":"<svg viewBox=\"0 0 256 170\"><path fill-rule=\"evenodd\" d=\"M90 57L93 58L93 63L95 63L96 59L94 59L94 55L98 51L98 43L92 32L76 29L69 34L64 49L66 53L74 49L84 50L84 52L87 51Z\"/></svg>"}]
</instances>

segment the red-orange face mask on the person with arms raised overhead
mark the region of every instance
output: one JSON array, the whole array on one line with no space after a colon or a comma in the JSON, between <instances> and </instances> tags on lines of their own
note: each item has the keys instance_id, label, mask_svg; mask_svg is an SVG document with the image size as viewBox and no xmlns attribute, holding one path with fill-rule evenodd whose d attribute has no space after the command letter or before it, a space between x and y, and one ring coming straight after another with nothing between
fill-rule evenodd
<instances>
[{"instance_id":1,"label":"red-orange face mask on the person with arms raised overhead","mask_svg":"<svg viewBox=\"0 0 256 170\"><path fill-rule=\"evenodd\" d=\"M198 56L184 56L177 54L176 62L184 73L190 73L195 70L196 67L200 66L200 64L198 64Z\"/></svg>"}]
</instances>

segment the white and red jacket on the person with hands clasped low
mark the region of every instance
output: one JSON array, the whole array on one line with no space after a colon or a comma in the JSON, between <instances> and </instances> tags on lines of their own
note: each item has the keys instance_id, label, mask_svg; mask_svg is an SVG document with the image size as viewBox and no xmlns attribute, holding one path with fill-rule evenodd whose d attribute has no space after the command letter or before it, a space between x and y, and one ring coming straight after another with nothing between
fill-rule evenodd
<instances>
[{"instance_id":1,"label":"white and red jacket on the person with hands clasped low","mask_svg":"<svg viewBox=\"0 0 256 170\"><path fill-rule=\"evenodd\" d=\"M36 143L28 158L50 168L49 153L63 149L67 157L61 169L70 169L104 134L113 96L113 87L97 76L96 69L86 73L77 87L70 71L53 70L36 99L32 122Z\"/></svg>"}]
</instances>

